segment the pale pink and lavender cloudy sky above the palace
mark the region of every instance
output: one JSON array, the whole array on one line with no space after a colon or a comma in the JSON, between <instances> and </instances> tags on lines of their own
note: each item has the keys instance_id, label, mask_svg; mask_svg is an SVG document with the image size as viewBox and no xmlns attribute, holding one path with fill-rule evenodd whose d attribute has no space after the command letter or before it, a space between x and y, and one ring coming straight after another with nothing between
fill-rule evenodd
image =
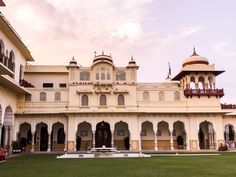
<instances>
[{"instance_id":1,"label":"pale pink and lavender cloudy sky above the palace","mask_svg":"<svg viewBox=\"0 0 236 177\"><path fill-rule=\"evenodd\" d=\"M236 103L235 0L4 0L0 11L21 36L34 64L90 66L104 51L116 66L131 56L139 82L172 77L193 46L226 72L222 103Z\"/></svg>"}]
</instances>

